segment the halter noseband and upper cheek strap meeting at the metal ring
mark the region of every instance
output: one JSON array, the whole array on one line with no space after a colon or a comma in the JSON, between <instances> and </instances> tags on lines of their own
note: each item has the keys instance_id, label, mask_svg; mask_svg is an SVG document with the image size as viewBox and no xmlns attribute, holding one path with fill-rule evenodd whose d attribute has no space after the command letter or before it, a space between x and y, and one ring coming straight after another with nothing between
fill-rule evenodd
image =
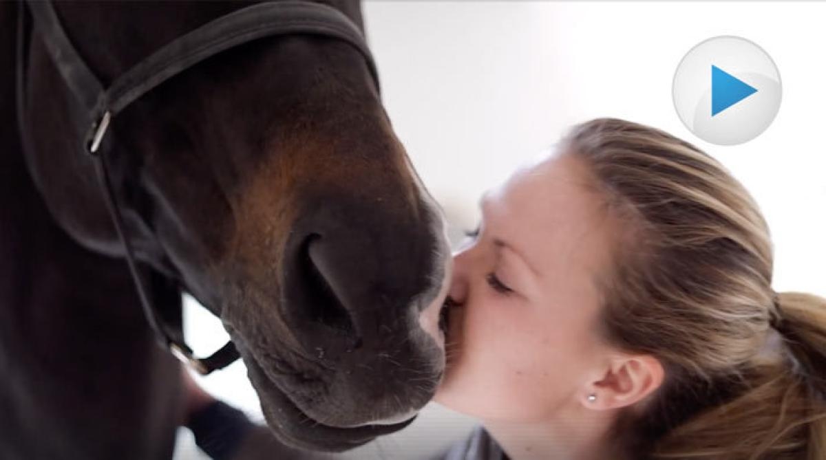
<instances>
[{"instance_id":1,"label":"halter noseband and upper cheek strap meeting at the metal ring","mask_svg":"<svg viewBox=\"0 0 826 460\"><path fill-rule=\"evenodd\" d=\"M26 0L64 81L93 120L83 143L96 153L109 120L170 77L226 49L273 35L320 35L352 45L378 88L373 54L361 31L334 7L301 0L264 2L221 16L164 45L104 89L66 36L49 0ZM108 115L107 115L108 114ZM94 147L94 148L93 148Z\"/></svg>"}]
</instances>

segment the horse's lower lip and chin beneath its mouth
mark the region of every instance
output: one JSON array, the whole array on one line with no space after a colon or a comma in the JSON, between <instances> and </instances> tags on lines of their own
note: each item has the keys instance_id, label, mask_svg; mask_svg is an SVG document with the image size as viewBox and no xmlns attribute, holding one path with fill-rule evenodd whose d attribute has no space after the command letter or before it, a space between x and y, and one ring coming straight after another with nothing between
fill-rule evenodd
<instances>
[{"instance_id":1,"label":"horse's lower lip and chin beneath its mouth","mask_svg":"<svg viewBox=\"0 0 826 460\"><path fill-rule=\"evenodd\" d=\"M278 387L255 359L247 359L249 379L261 400L263 415L273 434L282 443L295 448L342 452L357 448L384 434L391 434L410 425L408 420L387 425L370 424L354 427L326 425L301 411L294 401Z\"/></svg>"}]
</instances>

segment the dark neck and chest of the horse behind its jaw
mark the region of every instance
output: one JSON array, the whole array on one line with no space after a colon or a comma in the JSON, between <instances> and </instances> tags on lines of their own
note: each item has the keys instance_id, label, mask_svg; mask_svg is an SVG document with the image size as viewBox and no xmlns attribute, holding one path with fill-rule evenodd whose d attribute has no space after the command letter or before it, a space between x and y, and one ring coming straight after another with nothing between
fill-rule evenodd
<instances>
[{"instance_id":1,"label":"dark neck and chest of the horse behind its jaw","mask_svg":"<svg viewBox=\"0 0 826 460\"><path fill-rule=\"evenodd\" d=\"M16 30L17 3L0 2L0 68L15 68ZM78 245L46 209L14 83L0 73L13 108L0 111L0 458L169 458L179 366L154 345L124 262Z\"/></svg>"}]
</instances>

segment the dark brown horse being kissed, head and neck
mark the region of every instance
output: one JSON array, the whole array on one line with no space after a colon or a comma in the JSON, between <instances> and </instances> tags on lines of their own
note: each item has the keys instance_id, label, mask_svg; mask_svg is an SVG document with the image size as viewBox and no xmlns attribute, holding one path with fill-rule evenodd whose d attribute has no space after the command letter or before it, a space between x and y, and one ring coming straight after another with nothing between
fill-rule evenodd
<instances>
[{"instance_id":1,"label":"dark brown horse being kissed, head and neck","mask_svg":"<svg viewBox=\"0 0 826 460\"><path fill-rule=\"evenodd\" d=\"M316 3L363 33L357 0ZM107 86L248 7L54 17ZM47 29L0 2L0 458L171 457L181 364L157 336L180 330L183 293L220 318L282 443L341 451L409 424L444 373L449 246L363 50L233 45L98 120L84 151Z\"/></svg>"}]
</instances>

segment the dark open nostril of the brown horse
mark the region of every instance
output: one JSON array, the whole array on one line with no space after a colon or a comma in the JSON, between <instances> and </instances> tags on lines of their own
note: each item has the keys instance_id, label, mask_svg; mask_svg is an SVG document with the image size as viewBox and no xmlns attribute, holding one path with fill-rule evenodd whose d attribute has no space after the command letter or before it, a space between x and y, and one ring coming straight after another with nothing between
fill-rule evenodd
<instances>
[{"instance_id":1,"label":"dark open nostril of the brown horse","mask_svg":"<svg viewBox=\"0 0 826 460\"><path fill-rule=\"evenodd\" d=\"M331 271L329 261L325 261L324 251L314 250L314 246L317 247L320 240L320 235L310 235L301 248L301 279L306 283L303 288L308 296L308 302L304 308L312 321L352 336L354 334L353 318L344 306L343 296L336 293L333 281L335 274Z\"/></svg>"}]
</instances>

